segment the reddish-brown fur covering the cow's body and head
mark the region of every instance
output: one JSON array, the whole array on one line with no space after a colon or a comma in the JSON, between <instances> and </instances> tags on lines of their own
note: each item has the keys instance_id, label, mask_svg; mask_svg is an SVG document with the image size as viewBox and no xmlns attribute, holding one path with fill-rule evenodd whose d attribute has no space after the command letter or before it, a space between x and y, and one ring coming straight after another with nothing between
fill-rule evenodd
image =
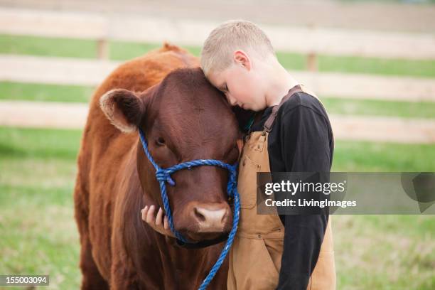
<instances>
[{"instance_id":1,"label":"reddish-brown fur covering the cow's body and head","mask_svg":"<svg viewBox=\"0 0 435 290\"><path fill-rule=\"evenodd\" d=\"M161 133L159 129L167 132L175 153L159 151L149 141L150 150L162 167L200 158L227 163L237 159L237 150L228 154L237 139L235 118L219 92L206 84L199 68L178 70L171 74L173 81L156 85L172 70L197 66L198 59L193 55L165 44L119 66L95 91L82 136L74 193L82 289L196 289L217 259L222 243L204 249L183 249L176 246L173 238L152 230L140 215L144 204L161 205L161 200L154 168L131 124L139 122L149 140ZM124 116L124 131L130 134L110 124L100 108L102 95L115 88L135 92L144 102L142 109L146 108L144 117L137 112ZM199 94L203 96L193 94L195 90L202 90ZM175 102L176 98L186 100ZM180 103L184 107L178 107ZM153 107L161 112L149 109ZM188 191L183 193L184 203L174 205L173 200L181 193L168 188L176 227L196 240L213 235L195 235L195 227L183 225L186 210L182 210L182 205L195 200L226 202L227 173L219 168L200 167L173 174L177 182L174 188ZM229 229L230 220L225 227ZM226 289L226 279L225 261L210 289Z\"/></svg>"}]
</instances>

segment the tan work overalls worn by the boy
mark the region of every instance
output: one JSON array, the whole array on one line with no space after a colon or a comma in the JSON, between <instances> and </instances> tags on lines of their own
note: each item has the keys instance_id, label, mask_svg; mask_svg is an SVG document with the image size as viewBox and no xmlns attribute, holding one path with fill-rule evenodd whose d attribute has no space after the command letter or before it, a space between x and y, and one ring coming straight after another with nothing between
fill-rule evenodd
<instances>
[{"instance_id":1,"label":"tan work overalls worn by the boy","mask_svg":"<svg viewBox=\"0 0 435 290\"><path fill-rule=\"evenodd\" d=\"M306 92L301 85L292 88L281 103L272 109L272 114L264 124L264 130L254 131L245 139L237 186L241 205L240 222L230 251L230 269L227 279L229 290L269 290L276 289L278 285L284 245L284 225L279 215L257 215L257 172L270 172L267 137L279 106L294 92L301 91ZM335 289L331 217L307 289Z\"/></svg>"}]
</instances>

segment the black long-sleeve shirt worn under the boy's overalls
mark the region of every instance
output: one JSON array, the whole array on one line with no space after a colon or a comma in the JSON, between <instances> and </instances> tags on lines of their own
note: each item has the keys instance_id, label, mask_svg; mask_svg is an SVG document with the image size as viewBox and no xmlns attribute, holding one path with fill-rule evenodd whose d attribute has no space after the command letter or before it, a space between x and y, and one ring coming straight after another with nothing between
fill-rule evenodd
<instances>
[{"instance_id":1,"label":"black long-sleeve shirt worn under the boy's overalls","mask_svg":"<svg viewBox=\"0 0 435 290\"><path fill-rule=\"evenodd\" d=\"M268 107L251 131L262 131ZM333 133L321 102L296 92L279 108L268 137L271 172L329 172ZM279 215L284 224L284 252L277 289L306 289L318 259L328 214Z\"/></svg>"}]
</instances>

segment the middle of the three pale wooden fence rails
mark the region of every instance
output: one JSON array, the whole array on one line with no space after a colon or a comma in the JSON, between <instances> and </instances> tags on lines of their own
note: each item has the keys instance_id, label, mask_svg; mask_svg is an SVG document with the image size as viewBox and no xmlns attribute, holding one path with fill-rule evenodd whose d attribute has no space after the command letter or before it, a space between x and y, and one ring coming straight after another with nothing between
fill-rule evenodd
<instances>
[{"instance_id":1,"label":"middle of the three pale wooden fence rails","mask_svg":"<svg viewBox=\"0 0 435 290\"><path fill-rule=\"evenodd\" d=\"M0 55L0 80L95 86L119 64L108 60ZM291 74L321 97L435 102L433 79L301 71Z\"/></svg>"}]
</instances>

